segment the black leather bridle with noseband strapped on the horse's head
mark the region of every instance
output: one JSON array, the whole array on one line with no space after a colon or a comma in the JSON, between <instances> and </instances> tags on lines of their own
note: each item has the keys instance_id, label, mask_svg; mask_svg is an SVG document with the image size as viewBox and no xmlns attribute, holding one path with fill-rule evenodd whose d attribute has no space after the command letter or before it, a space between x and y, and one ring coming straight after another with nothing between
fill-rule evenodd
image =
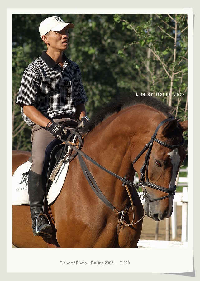
<instances>
[{"instance_id":1,"label":"black leather bridle with noseband strapped on the horse's head","mask_svg":"<svg viewBox=\"0 0 200 281\"><path fill-rule=\"evenodd\" d=\"M144 164L142 165L141 169L140 169L140 180L139 180L139 183L135 185L135 187L138 189L139 187L143 187L145 191L143 191L143 194L140 193L140 197L142 199L144 199L145 197L147 197L147 191L145 189L145 186L146 187L151 187L151 188L154 188L154 189L157 189L157 190L160 190L162 192L165 192L165 193L168 193L168 195L166 196L163 196L163 197L160 197L160 198L156 198L156 199L151 199L151 200L148 200L147 198L145 198L145 202L153 202L153 201L157 201L157 200L161 200L161 199L165 199L165 198L168 198L172 195L175 194L175 190L176 190L176 185L171 188L171 189L168 189L168 188L165 188L165 187L162 187L162 186L159 186L159 185L155 185L153 183L150 183L149 182L149 179L148 179L148 165L149 165L149 159L150 159L150 154L151 154L151 150L152 150L152 146L153 146L153 143L154 141L157 142L158 144L160 145L163 145L165 147L168 147L168 148L171 148L171 149L174 149L174 148L179 148L181 146L183 146L184 144L184 138L182 136L182 142L178 145L170 145L166 142L163 142L163 141L160 141L156 138L156 135L157 135L157 132L159 130L159 128L166 122L168 121L171 121L173 120L173 118L168 118L168 119L165 119L163 120L162 122L160 122L160 124L157 126L153 136L151 137L151 140L145 145L145 147L143 148L143 150L140 151L140 153L136 156L136 158L133 160L132 164L134 165L136 163L136 161L140 158L140 156L147 150L147 153L146 153L146 156L145 156L145 161L144 161ZM145 179L145 172L146 172L146 182L144 181Z\"/></svg>"}]
</instances>

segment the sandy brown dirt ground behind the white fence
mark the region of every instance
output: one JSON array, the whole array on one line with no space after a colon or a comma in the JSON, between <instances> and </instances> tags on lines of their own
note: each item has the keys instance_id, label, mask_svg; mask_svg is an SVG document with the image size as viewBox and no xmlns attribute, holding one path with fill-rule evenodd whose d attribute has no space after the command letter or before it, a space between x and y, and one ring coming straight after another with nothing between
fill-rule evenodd
<instances>
[{"instance_id":1,"label":"sandy brown dirt ground behind the white fence","mask_svg":"<svg viewBox=\"0 0 200 281\"><path fill-rule=\"evenodd\" d=\"M155 240L156 235L156 227L158 227L158 235L157 240L166 240L166 221L169 222L169 229L170 229L170 241L181 241L181 228L182 228L182 207L177 206L177 237L172 239L172 231L171 231L171 218L164 219L159 222L154 221L147 216L143 219L142 225L142 233L140 239L142 240ZM168 240L168 239L167 239Z\"/></svg>"}]
</instances>

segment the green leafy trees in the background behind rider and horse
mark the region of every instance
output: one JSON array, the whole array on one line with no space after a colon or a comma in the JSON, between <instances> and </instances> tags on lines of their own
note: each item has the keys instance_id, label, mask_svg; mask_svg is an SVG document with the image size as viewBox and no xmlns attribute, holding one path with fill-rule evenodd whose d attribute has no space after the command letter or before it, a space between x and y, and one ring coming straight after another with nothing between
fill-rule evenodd
<instances>
[{"instance_id":1,"label":"green leafy trees in the background behind rider and horse","mask_svg":"<svg viewBox=\"0 0 200 281\"><path fill-rule=\"evenodd\" d=\"M54 14L13 14L13 149L31 150L31 129L15 105L23 71L46 49L39 24ZM172 91L177 118L187 118L187 15L58 14L74 23L66 56L82 72L91 116L117 93ZM177 28L175 28L175 21ZM174 58L174 36L177 35ZM167 74L168 73L168 74ZM158 96L169 103L168 96Z\"/></svg>"}]
</instances>

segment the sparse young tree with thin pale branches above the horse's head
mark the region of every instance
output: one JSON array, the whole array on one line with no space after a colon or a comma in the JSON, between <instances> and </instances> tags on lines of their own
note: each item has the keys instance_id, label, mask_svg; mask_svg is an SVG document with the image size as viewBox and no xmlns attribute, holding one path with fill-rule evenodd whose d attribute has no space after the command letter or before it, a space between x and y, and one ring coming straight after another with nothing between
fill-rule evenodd
<instances>
[{"instance_id":1,"label":"sparse young tree with thin pale branches above the horse's head","mask_svg":"<svg viewBox=\"0 0 200 281\"><path fill-rule=\"evenodd\" d=\"M114 16L122 29L131 30L131 37L119 54L125 56L129 48L137 46L135 68L140 81L147 81L147 91L170 93L164 96L176 107L176 116L187 117L187 15L149 14L142 22L131 21L126 15ZM174 95L176 93L176 95ZM177 96L179 93L179 96ZM184 96L180 96L184 93Z\"/></svg>"}]
</instances>

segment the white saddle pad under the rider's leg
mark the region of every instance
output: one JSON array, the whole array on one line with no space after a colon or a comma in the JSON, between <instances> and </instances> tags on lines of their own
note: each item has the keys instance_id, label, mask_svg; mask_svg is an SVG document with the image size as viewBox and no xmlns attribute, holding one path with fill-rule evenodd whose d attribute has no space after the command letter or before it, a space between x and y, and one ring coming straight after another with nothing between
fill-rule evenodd
<instances>
[{"instance_id":1,"label":"white saddle pad under the rider's leg","mask_svg":"<svg viewBox=\"0 0 200 281\"><path fill-rule=\"evenodd\" d=\"M28 196L28 172L32 163L27 161L17 168L12 176L12 204L13 205L29 205ZM53 181L47 194L48 204L52 203L60 193L63 187L65 177L67 175L69 163L61 160L60 165L52 172L50 179Z\"/></svg>"}]
</instances>

